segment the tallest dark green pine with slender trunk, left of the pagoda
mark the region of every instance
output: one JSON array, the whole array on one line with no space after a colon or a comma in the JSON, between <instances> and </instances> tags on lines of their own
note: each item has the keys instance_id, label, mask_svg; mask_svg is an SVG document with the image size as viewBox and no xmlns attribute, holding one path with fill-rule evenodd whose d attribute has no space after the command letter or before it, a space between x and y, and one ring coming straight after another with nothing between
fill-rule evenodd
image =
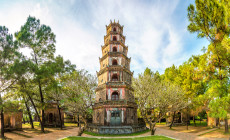
<instances>
[{"instance_id":1,"label":"tallest dark green pine with slender trunk, left of the pagoda","mask_svg":"<svg viewBox=\"0 0 230 140\"><path fill-rule=\"evenodd\" d=\"M33 74L33 82L38 87L40 103L42 110L41 131L44 132L44 86L48 77L53 74L53 69L49 68L49 62L54 59L55 53L55 35L51 28L41 25L40 20L34 17L28 17L26 23L19 32L15 33L16 39L21 48L31 50L30 69Z\"/></svg>"}]
</instances>

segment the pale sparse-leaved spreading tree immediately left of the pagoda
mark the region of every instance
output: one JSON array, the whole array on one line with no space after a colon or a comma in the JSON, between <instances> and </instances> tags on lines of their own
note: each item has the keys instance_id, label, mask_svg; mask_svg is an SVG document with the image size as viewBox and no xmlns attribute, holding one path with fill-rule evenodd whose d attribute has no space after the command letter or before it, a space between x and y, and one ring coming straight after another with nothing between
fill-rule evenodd
<instances>
[{"instance_id":1,"label":"pale sparse-leaved spreading tree immediately left of the pagoda","mask_svg":"<svg viewBox=\"0 0 230 140\"><path fill-rule=\"evenodd\" d=\"M64 105L72 114L79 114L87 128L87 118L92 116L96 77L86 71L75 71L64 78Z\"/></svg>"}]
</instances>

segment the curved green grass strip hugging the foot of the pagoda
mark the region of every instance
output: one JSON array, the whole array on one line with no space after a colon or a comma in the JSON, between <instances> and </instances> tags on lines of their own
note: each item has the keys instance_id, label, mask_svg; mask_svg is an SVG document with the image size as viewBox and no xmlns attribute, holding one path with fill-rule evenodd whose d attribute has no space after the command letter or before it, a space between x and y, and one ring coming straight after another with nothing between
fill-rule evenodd
<instances>
[{"instance_id":1,"label":"curved green grass strip hugging the foot of the pagoda","mask_svg":"<svg viewBox=\"0 0 230 140\"><path fill-rule=\"evenodd\" d=\"M149 132L149 129L146 129L145 131L141 131L141 132L137 132L137 133L131 133L131 134L119 134L119 135L109 135L109 134L97 134L97 133L93 133L93 132L88 132L88 131L84 131L85 134L91 135L91 136L102 136L102 137L119 137L119 136L137 136L137 135L141 135L144 133Z\"/></svg>"}]
</instances>

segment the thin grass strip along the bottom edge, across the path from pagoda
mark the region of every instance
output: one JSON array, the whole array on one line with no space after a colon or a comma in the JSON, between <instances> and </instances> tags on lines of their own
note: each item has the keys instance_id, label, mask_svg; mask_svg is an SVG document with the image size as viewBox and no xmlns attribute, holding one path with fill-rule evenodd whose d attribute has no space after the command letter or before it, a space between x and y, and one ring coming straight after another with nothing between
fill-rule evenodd
<instances>
[{"instance_id":1,"label":"thin grass strip along the bottom edge, across the path from pagoda","mask_svg":"<svg viewBox=\"0 0 230 140\"><path fill-rule=\"evenodd\" d=\"M68 137L62 140L111 140L111 139L119 139L119 140L172 140L170 138L164 136L146 136L146 137L136 137L136 138L87 138L87 137Z\"/></svg>"}]
</instances>

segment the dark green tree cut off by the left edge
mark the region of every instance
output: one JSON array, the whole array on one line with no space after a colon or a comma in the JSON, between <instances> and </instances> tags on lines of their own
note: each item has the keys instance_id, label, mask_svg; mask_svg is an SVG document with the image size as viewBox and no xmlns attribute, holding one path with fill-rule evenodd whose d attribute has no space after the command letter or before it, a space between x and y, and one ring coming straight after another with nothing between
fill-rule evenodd
<instances>
[{"instance_id":1,"label":"dark green tree cut off by the left edge","mask_svg":"<svg viewBox=\"0 0 230 140\"><path fill-rule=\"evenodd\" d=\"M0 26L0 110L1 110L1 138L4 138L4 109L2 96L17 81L14 77L16 70L15 59L20 55L5 26Z\"/></svg>"}]
</instances>

